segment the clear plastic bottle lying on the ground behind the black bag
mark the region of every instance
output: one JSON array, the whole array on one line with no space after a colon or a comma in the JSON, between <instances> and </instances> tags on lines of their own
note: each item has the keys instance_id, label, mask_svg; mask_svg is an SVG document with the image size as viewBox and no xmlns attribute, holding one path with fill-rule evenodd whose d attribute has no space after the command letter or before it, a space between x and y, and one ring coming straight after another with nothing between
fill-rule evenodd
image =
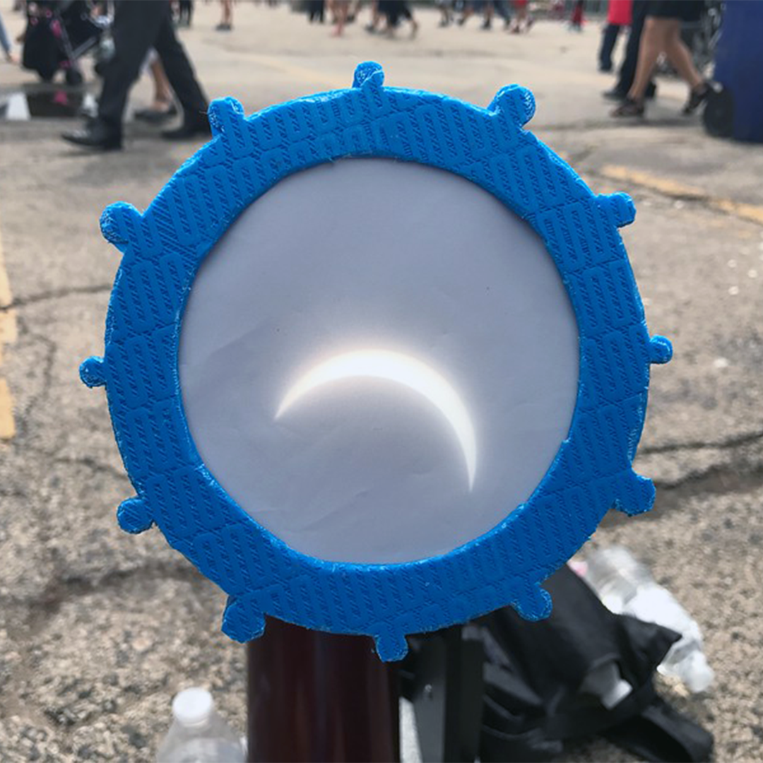
<instances>
[{"instance_id":1,"label":"clear plastic bottle lying on the ground behind the black bag","mask_svg":"<svg viewBox=\"0 0 763 763\"><path fill-rule=\"evenodd\" d=\"M715 674L702 649L700 626L628 549L599 549L587 557L581 571L607 609L681 634L658 667L660 673L680 679L691 692L704 691L713 683Z\"/></svg>"}]
</instances>

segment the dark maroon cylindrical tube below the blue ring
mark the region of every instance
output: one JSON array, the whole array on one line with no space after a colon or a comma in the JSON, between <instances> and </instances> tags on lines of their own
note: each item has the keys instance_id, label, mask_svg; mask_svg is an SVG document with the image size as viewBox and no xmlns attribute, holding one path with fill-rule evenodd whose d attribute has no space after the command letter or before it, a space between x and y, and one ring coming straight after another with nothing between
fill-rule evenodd
<instances>
[{"instance_id":1,"label":"dark maroon cylindrical tube below the blue ring","mask_svg":"<svg viewBox=\"0 0 763 763\"><path fill-rule=\"evenodd\" d=\"M399 763L398 671L367 636L269 618L246 652L249 763Z\"/></svg>"}]
</instances>

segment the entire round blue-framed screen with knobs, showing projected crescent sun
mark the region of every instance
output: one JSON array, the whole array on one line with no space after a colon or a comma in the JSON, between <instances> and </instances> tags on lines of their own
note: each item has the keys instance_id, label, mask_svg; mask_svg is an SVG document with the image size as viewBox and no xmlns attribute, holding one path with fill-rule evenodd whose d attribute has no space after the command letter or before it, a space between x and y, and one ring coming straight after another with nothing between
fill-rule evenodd
<instances>
[{"instance_id":1,"label":"entire round blue-framed screen with knobs, showing projected crescent sun","mask_svg":"<svg viewBox=\"0 0 763 763\"><path fill-rule=\"evenodd\" d=\"M107 208L122 252L105 385L136 494L228 594L223 629L270 615L405 636L505 605L545 617L544 581L604 513L652 506L631 462L650 337L617 227L524 124L517 85L488 108L385 87L250 117L139 213Z\"/></svg>"}]
</instances>

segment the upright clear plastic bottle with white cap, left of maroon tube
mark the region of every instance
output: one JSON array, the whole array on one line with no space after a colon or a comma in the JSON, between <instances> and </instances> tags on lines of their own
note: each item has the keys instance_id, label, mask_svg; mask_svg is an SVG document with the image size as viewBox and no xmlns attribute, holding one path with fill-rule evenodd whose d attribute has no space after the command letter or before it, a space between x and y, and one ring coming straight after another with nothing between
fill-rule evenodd
<instances>
[{"instance_id":1,"label":"upright clear plastic bottle with white cap, left of maroon tube","mask_svg":"<svg viewBox=\"0 0 763 763\"><path fill-rule=\"evenodd\" d=\"M244 763L239 736L214 710L206 689L186 689L172 700L172 726L156 763Z\"/></svg>"}]
</instances>

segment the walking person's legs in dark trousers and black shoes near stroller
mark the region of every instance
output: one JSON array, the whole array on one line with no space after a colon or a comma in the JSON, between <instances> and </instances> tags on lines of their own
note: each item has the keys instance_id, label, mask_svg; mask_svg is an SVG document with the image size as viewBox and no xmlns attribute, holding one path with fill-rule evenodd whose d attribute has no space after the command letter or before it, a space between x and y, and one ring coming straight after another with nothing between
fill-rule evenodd
<instances>
[{"instance_id":1,"label":"walking person's legs in dark trousers and black shoes near stroller","mask_svg":"<svg viewBox=\"0 0 763 763\"><path fill-rule=\"evenodd\" d=\"M64 133L64 140L95 150L121 149L127 95L152 47L182 107L180 127L167 130L162 136L168 140L187 140L211 134L207 98L185 50L175 37L169 0L119 0L114 9L111 35L114 56L103 67L98 115L81 130Z\"/></svg>"}]
</instances>

